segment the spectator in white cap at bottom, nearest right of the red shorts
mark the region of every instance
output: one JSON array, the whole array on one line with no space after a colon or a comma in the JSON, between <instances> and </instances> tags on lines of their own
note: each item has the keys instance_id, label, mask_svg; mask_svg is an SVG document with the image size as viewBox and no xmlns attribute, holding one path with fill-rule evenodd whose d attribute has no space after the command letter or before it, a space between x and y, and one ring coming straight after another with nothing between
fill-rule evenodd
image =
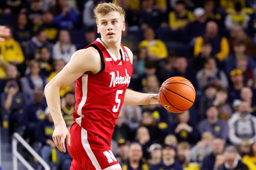
<instances>
[{"instance_id":1,"label":"spectator in white cap at bottom, nearest right of the red shorts","mask_svg":"<svg viewBox=\"0 0 256 170\"><path fill-rule=\"evenodd\" d=\"M148 159L149 169L154 169L162 159L162 146L160 144L151 144L149 149L150 158Z\"/></svg>"}]
</instances>

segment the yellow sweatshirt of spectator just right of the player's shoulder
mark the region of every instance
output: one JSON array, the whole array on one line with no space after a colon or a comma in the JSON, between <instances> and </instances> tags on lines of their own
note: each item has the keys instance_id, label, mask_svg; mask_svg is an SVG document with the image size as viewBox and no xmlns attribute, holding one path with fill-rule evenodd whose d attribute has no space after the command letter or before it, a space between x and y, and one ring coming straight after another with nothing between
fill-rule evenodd
<instances>
[{"instance_id":1,"label":"yellow sweatshirt of spectator just right of the player's shoulder","mask_svg":"<svg viewBox=\"0 0 256 170\"><path fill-rule=\"evenodd\" d=\"M147 41L143 40L139 44L139 48L146 47L149 49L149 55L157 56L157 58L166 58L168 55L167 48L163 41L161 40L153 40L153 41Z\"/></svg>"}]
</instances>

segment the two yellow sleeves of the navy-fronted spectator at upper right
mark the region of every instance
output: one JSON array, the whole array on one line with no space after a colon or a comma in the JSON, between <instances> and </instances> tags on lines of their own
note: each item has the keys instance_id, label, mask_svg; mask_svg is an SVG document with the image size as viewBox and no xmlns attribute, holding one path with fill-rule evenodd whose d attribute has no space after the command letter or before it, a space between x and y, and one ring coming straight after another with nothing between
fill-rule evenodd
<instances>
[{"instance_id":1,"label":"two yellow sleeves of the navy-fronted spectator at upper right","mask_svg":"<svg viewBox=\"0 0 256 170\"><path fill-rule=\"evenodd\" d=\"M204 42L203 37L199 36L196 38L196 43L194 46L194 56L198 56L202 51L202 44ZM229 44L226 37L222 37L220 40L220 52L216 54L219 60L227 58L229 55Z\"/></svg>"}]
</instances>

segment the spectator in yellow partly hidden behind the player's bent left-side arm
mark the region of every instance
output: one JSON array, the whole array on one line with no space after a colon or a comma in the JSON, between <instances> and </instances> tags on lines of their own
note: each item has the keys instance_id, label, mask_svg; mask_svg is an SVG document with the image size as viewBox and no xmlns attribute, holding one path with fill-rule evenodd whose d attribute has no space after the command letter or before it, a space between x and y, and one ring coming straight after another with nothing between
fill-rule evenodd
<instances>
[{"instance_id":1,"label":"spectator in yellow partly hidden behind the player's bent left-side arm","mask_svg":"<svg viewBox=\"0 0 256 170\"><path fill-rule=\"evenodd\" d=\"M54 78L66 65L65 61L60 59L60 60L56 60L54 63L54 70L50 76L47 78L47 81L51 81L52 78ZM68 85L67 87L63 88L60 90L60 97L64 96L65 93L70 92L71 91L71 85Z\"/></svg>"}]
</instances>

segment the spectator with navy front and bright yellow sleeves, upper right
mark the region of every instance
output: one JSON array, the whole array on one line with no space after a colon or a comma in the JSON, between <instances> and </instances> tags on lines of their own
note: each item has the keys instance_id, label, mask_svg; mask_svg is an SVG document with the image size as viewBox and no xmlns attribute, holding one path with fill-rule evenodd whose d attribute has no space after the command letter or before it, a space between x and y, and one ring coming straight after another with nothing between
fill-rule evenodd
<instances>
[{"instance_id":1,"label":"spectator with navy front and bright yellow sleeves, upper right","mask_svg":"<svg viewBox=\"0 0 256 170\"><path fill-rule=\"evenodd\" d=\"M212 44L212 55L220 61L223 61L228 56L228 40L226 37L219 35L218 25L215 21L207 22L204 36L197 37L194 47L195 56L201 53L204 41L209 41Z\"/></svg>"}]
</instances>

